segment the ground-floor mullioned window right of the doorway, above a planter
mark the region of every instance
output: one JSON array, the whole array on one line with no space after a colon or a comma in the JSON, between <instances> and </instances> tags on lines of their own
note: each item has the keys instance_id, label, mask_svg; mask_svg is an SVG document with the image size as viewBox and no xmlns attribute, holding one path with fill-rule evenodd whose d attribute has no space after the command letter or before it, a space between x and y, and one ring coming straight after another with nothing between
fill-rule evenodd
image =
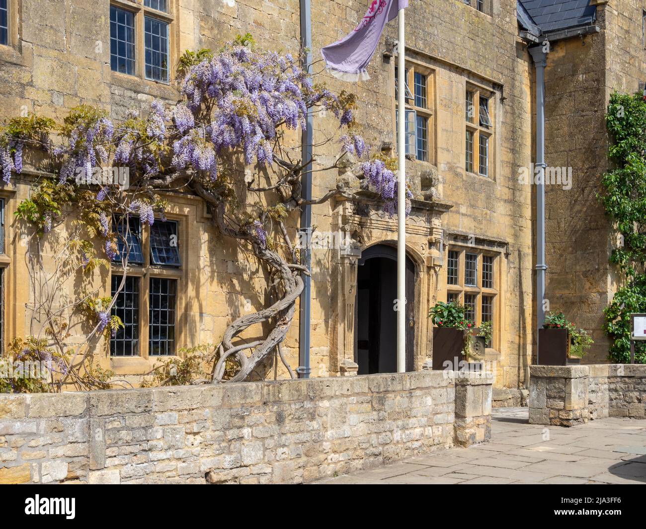
<instances>
[{"instance_id":1,"label":"ground-floor mullioned window right of the doorway, above a planter","mask_svg":"<svg viewBox=\"0 0 646 529\"><path fill-rule=\"evenodd\" d=\"M480 249L453 247L446 258L446 301L464 306L464 317L476 327L492 322L499 295L495 275L497 254ZM487 347L492 347L488 343Z\"/></svg>"}]
</instances>

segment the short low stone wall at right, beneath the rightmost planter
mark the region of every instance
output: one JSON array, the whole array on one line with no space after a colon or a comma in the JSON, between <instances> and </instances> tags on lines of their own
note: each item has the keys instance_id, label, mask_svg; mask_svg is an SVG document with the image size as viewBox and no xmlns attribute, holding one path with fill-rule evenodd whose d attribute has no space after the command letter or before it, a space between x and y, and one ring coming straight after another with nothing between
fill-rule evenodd
<instances>
[{"instance_id":1,"label":"short low stone wall at right, beneath the rightmost planter","mask_svg":"<svg viewBox=\"0 0 646 529\"><path fill-rule=\"evenodd\" d=\"M604 417L646 417L646 365L530 366L530 423L575 426Z\"/></svg>"}]
</instances>

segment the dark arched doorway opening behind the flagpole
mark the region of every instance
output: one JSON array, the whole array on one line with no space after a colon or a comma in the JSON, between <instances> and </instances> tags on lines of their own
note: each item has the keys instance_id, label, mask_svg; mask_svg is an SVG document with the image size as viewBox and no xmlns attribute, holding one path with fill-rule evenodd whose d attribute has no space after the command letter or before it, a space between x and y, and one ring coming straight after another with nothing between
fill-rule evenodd
<instances>
[{"instance_id":1,"label":"dark arched doorway opening behind the flagpole","mask_svg":"<svg viewBox=\"0 0 646 529\"><path fill-rule=\"evenodd\" d=\"M359 375L397 372L397 249L364 250L357 268L355 358ZM415 350L415 264L406 256L406 371Z\"/></svg>"}]
</instances>

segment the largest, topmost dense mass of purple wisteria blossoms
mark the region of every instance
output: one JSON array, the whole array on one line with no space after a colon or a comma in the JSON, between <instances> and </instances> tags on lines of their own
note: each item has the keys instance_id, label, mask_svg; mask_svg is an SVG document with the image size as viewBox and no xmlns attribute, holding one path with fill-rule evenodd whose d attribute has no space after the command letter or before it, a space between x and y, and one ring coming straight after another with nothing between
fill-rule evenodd
<instances>
[{"instance_id":1,"label":"largest, topmost dense mass of purple wisteria blossoms","mask_svg":"<svg viewBox=\"0 0 646 529\"><path fill-rule=\"evenodd\" d=\"M183 81L182 93L192 112L200 109L205 98L213 100L209 140L216 152L240 148L246 163L271 165L270 142L276 128L306 127L311 87L293 57L234 46L192 67ZM191 129L191 118L179 105L175 120L182 134ZM199 158L191 154L201 139L192 134L176 142L176 166L196 165Z\"/></svg>"}]
</instances>

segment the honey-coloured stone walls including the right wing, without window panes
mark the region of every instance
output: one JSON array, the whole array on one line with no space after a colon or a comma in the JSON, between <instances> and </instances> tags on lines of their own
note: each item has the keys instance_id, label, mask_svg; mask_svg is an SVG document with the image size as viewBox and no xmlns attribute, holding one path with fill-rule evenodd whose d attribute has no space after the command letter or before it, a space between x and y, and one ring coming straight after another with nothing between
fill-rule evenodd
<instances>
[{"instance_id":1,"label":"honey-coloured stone walls including the right wing, without window panes","mask_svg":"<svg viewBox=\"0 0 646 529\"><path fill-rule=\"evenodd\" d=\"M141 0L115 0L143 15ZM603 113L614 89L638 88L643 71L641 8L643 0L595 1L599 33L552 43L546 68L546 157L554 167L572 167L574 186L547 189L547 298L563 309L579 327L592 332L595 345L590 361L605 360L607 341L601 332L602 310L616 288L608 264L612 234L595 192L607 166L607 134ZM114 118L126 109L146 109L154 98L178 100L176 79L147 80L138 63L136 75L110 70L109 2L56 0L45 6L37 0L10 0L10 42L0 46L0 118L27 111L61 119L80 103L98 105ZM298 0L172 0L164 19L170 24L172 65L183 50L219 48L238 34L251 32L258 45L297 54L300 43ZM492 299L494 337L486 360L495 373L494 402L521 404L534 340L533 241L534 186L518 181L519 169L533 159L534 67L519 38L516 0L492 0L485 12L462 0L412 2L406 26L409 67L428 81L428 155L408 162L415 193L407 224L407 251L414 264L415 307L413 369L432 356L432 326L428 309L448 296L475 296L475 320L482 320L484 296ZM365 2L313 0L313 56L359 23ZM154 14L160 16L160 14ZM349 85L323 72L334 90L355 92L357 120L374 150L393 152L395 98L393 39L390 24L370 64L370 79ZM140 42L141 44L141 42ZM139 50L140 52L141 50ZM141 53L140 55L141 56ZM141 60L141 59L139 59ZM488 176L465 167L465 94L473 90L490 105L490 171ZM314 121L318 145L335 127L324 112ZM477 127L475 127L477 128ZM315 150L315 169L337 154L338 145ZM348 179L342 171L317 172L313 196L323 196ZM26 178L0 189L6 200L5 326L3 340L26 337L34 322L25 306L32 286L23 278L25 231L14 219L17 204L28 196ZM243 197L244 200L244 197ZM142 267L141 278L167 276L180 283L176 349L218 342L234 318L264 306L266 282L260 267L246 254L218 236L202 202L191 196L169 196L168 216L180 222L183 266L178 271ZM290 229L298 220L291 219ZM393 246L395 218L389 218L369 196L355 194L313 207L313 225L320 233L346 233L359 249L313 251L311 369L317 377L338 376L343 366L357 362L357 269L360 253L375 245ZM448 252L459 254L459 280L450 284ZM484 256L493 259L490 289L464 285L467 253L477 256L481 272ZM114 271L114 270L113 270ZM101 294L109 294L110 274L96 278ZM143 281L141 294L147 294ZM73 288L70 288L73 293ZM147 350L145 309L142 309L141 350L132 358L110 358L106 344L92 346L103 368L116 371L133 384L156 359ZM72 316L70 315L70 318ZM393 315L394 318L394 315ZM298 311L284 343L289 364L298 366ZM76 327L75 327L76 328ZM252 338L253 332L242 338ZM70 344L83 342L83 334ZM177 351L176 351L177 352ZM287 376L277 362L258 377Z\"/></svg>"}]
</instances>

